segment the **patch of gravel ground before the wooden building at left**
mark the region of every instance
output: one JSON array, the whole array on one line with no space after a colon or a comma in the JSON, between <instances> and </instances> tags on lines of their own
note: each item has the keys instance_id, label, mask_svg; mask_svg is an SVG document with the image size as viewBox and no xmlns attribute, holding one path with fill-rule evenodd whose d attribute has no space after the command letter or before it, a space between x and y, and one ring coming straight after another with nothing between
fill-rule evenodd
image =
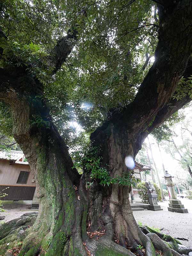
<instances>
[{"instance_id":1,"label":"patch of gravel ground before the wooden building at left","mask_svg":"<svg viewBox=\"0 0 192 256\"><path fill-rule=\"evenodd\" d=\"M6 204L3 206L5 212L0 212L0 216L5 216L4 220L0 220L0 224L19 218L26 212L37 212L36 209L28 209L30 206L25 204Z\"/></svg>"}]
</instances>

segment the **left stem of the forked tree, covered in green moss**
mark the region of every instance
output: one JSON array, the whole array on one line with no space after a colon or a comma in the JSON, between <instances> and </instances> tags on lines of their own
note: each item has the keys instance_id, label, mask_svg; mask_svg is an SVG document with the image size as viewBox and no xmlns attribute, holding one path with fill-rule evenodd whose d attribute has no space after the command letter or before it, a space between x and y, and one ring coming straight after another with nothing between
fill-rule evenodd
<instances>
[{"instance_id":1,"label":"left stem of the forked tree, covered in green moss","mask_svg":"<svg viewBox=\"0 0 192 256\"><path fill-rule=\"evenodd\" d=\"M37 95L33 100L35 103L14 91L7 99L13 135L34 172L39 199L38 217L24 241L23 252L36 255L41 250L46 255L74 255L78 250L86 255L80 227L87 209L83 198L77 199L79 191L74 189L79 187L80 175L71 169L73 162L68 149L52 124L44 102Z\"/></svg>"}]
</instances>

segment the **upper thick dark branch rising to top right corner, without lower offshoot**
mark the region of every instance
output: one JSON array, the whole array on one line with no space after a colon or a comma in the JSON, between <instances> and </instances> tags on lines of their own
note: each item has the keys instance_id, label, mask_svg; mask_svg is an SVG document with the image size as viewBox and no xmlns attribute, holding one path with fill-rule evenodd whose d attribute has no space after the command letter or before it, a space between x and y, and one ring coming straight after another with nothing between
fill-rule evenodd
<instances>
[{"instance_id":1,"label":"upper thick dark branch rising to top right corner, without lower offshoot","mask_svg":"<svg viewBox=\"0 0 192 256\"><path fill-rule=\"evenodd\" d=\"M146 123L149 124L172 98L192 52L191 19L186 16L186 25L181 25L181 20L184 18L183 11L186 14L189 10L191 12L192 3L185 1L185 4L183 6L178 4L177 8L173 9L171 18L170 15L166 16L159 10L161 19L159 42L155 52L156 61L141 84L133 102L121 113L119 121L122 120L122 125L130 125L130 120L132 120L135 124L134 128L141 129ZM164 25L162 26L162 24ZM175 30L175 26L178 26L178 30ZM183 47L180 47L182 44ZM114 115L114 119L116 119L116 115ZM145 122L143 122L144 120Z\"/></svg>"}]
</instances>

